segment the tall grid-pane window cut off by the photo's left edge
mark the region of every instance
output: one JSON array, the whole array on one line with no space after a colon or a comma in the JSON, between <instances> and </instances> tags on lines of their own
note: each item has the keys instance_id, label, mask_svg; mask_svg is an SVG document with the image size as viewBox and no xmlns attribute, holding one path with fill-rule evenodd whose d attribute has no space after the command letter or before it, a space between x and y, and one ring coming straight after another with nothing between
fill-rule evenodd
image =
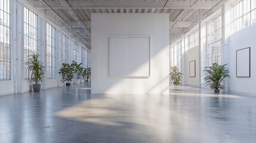
<instances>
[{"instance_id":1,"label":"tall grid-pane window cut off by the photo's left edge","mask_svg":"<svg viewBox=\"0 0 256 143\"><path fill-rule=\"evenodd\" d=\"M0 80L10 80L10 0L0 0Z\"/></svg>"}]
</instances>

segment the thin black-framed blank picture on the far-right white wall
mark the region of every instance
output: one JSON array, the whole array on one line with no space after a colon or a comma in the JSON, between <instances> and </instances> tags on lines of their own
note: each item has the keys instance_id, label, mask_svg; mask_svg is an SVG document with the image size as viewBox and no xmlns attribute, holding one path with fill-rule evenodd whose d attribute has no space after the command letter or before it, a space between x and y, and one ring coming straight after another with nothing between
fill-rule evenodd
<instances>
[{"instance_id":1,"label":"thin black-framed blank picture on the far-right white wall","mask_svg":"<svg viewBox=\"0 0 256 143\"><path fill-rule=\"evenodd\" d=\"M236 50L236 77L251 77L251 47Z\"/></svg>"}]
</instances>

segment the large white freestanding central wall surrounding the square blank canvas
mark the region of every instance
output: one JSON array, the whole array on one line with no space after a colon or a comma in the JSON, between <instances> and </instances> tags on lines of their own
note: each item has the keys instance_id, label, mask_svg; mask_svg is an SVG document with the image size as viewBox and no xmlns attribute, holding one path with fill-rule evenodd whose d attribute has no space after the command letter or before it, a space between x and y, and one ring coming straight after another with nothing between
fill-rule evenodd
<instances>
[{"instance_id":1,"label":"large white freestanding central wall surrounding the square blank canvas","mask_svg":"<svg viewBox=\"0 0 256 143\"><path fill-rule=\"evenodd\" d=\"M109 76L110 36L150 36L150 77ZM169 14L92 14L91 93L168 94L168 47Z\"/></svg>"}]
</instances>

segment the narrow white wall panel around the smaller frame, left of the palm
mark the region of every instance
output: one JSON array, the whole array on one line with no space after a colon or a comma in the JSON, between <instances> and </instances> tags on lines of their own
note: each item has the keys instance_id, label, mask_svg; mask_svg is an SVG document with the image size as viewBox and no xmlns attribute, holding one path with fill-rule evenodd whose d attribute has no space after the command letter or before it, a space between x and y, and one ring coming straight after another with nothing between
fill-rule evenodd
<instances>
[{"instance_id":1,"label":"narrow white wall panel around the smaller frame, left of the palm","mask_svg":"<svg viewBox=\"0 0 256 143\"><path fill-rule=\"evenodd\" d=\"M189 77L189 62L196 61L196 77ZM199 85L199 47L188 49L185 52L185 84Z\"/></svg>"}]
</instances>

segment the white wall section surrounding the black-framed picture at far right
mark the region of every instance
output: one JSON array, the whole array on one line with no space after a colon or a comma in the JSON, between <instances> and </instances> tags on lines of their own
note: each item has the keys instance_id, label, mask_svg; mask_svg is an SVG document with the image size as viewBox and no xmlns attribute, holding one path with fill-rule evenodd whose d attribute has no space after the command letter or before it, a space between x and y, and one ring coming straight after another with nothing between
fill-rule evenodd
<instances>
[{"instance_id":1,"label":"white wall section surrounding the black-framed picture at far right","mask_svg":"<svg viewBox=\"0 0 256 143\"><path fill-rule=\"evenodd\" d=\"M229 38L230 91L256 95L256 24L239 30ZM236 50L251 47L251 77L236 77Z\"/></svg>"}]
</instances>

